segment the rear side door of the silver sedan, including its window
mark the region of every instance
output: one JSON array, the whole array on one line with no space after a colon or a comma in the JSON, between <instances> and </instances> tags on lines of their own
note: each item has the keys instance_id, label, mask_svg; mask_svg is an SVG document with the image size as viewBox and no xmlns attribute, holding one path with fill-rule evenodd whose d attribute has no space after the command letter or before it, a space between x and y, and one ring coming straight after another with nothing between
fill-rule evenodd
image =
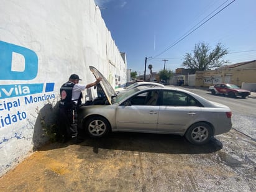
<instances>
[{"instance_id":1,"label":"rear side door of the silver sedan, including its window","mask_svg":"<svg viewBox=\"0 0 256 192\"><path fill-rule=\"evenodd\" d=\"M201 116L201 104L189 94L165 90L160 103L157 131L183 134Z\"/></svg>"}]
</instances>

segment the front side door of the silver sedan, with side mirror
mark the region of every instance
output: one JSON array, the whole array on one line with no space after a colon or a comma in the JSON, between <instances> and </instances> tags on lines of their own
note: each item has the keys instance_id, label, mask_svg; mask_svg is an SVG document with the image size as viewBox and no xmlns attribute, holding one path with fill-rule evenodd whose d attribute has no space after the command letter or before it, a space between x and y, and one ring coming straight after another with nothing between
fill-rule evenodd
<instances>
[{"instance_id":1,"label":"front side door of the silver sedan, with side mirror","mask_svg":"<svg viewBox=\"0 0 256 192\"><path fill-rule=\"evenodd\" d=\"M155 100L152 99L153 95ZM127 99L117 107L116 129L155 132L158 114L158 95L153 94L153 91L145 91Z\"/></svg>"}]
</instances>

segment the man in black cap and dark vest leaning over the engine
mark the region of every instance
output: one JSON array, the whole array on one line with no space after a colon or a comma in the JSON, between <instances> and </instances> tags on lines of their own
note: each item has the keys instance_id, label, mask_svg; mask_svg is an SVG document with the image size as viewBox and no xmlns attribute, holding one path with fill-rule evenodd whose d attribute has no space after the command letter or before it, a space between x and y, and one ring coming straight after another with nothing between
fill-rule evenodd
<instances>
[{"instance_id":1,"label":"man in black cap and dark vest leaning over the engine","mask_svg":"<svg viewBox=\"0 0 256 192\"><path fill-rule=\"evenodd\" d=\"M99 77L95 82L88 85L78 84L81 79L78 75L70 75L69 80L60 88L60 110L59 110L59 125L57 131L57 140L67 142L70 139L79 141L77 138L77 119L76 112L79 104L81 104L81 91L96 86L102 78Z\"/></svg>"}]
</instances>

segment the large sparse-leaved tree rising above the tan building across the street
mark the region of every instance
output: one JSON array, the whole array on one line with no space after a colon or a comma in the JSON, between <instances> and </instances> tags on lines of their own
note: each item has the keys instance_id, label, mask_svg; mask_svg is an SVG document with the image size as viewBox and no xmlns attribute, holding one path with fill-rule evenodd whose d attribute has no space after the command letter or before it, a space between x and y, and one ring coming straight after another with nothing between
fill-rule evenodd
<instances>
[{"instance_id":1,"label":"large sparse-leaved tree rising above the tan building across the street","mask_svg":"<svg viewBox=\"0 0 256 192\"><path fill-rule=\"evenodd\" d=\"M229 52L221 43L217 43L211 52L210 50L211 48L208 44L199 42L194 45L194 55L186 53L183 66L194 70L205 71L227 63L227 61L221 60L221 58Z\"/></svg>"}]
</instances>

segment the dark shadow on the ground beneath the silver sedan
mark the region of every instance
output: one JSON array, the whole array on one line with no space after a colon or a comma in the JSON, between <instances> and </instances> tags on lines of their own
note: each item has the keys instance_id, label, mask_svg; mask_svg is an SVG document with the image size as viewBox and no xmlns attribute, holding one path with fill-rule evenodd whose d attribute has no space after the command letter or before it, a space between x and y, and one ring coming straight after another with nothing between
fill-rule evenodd
<instances>
[{"instance_id":1,"label":"dark shadow on the ground beneath the silver sedan","mask_svg":"<svg viewBox=\"0 0 256 192\"><path fill-rule=\"evenodd\" d=\"M45 145L39 150L52 150L73 145L72 142L65 144L52 143ZM94 153L99 149L126 150L149 153L170 154L199 154L213 153L222 149L222 144L214 137L205 145L192 145L184 137L179 135L142 134L130 132L114 132L103 139L86 138L80 144L91 147Z\"/></svg>"}]
</instances>

